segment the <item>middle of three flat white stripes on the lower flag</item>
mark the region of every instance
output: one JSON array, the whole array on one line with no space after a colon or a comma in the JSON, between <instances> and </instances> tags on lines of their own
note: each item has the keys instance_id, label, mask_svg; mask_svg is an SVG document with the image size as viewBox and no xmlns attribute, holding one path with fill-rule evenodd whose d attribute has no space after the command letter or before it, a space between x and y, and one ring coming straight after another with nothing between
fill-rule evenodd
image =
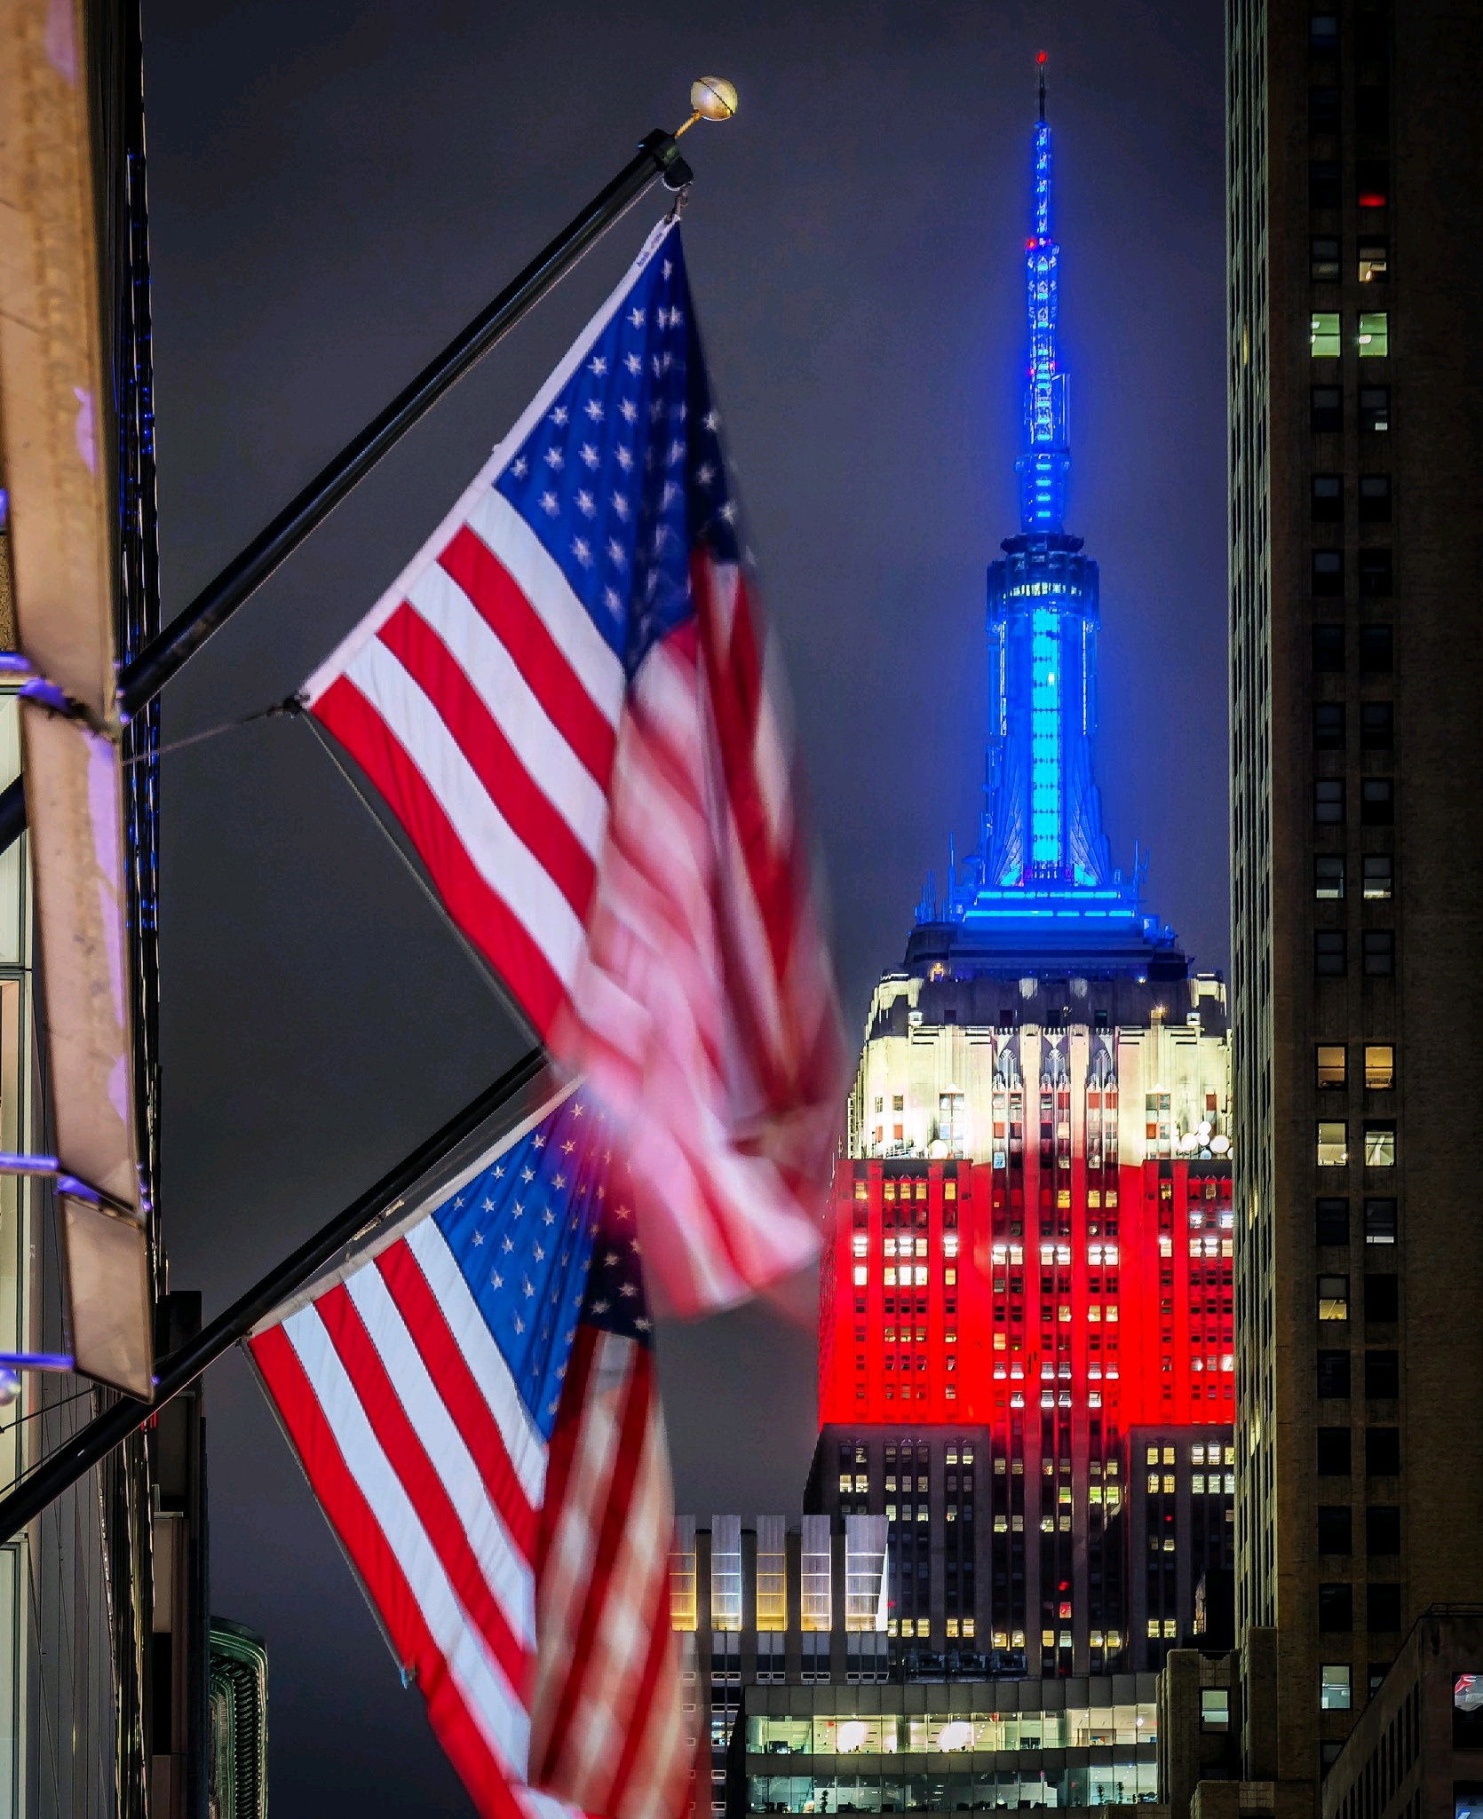
<instances>
[{"instance_id":1,"label":"middle of three flat white stripes on the lower flag","mask_svg":"<svg viewBox=\"0 0 1483 1819\"><path fill-rule=\"evenodd\" d=\"M391 1388L422 1442L439 1482L448 1492L459 1526L468 1535L484 1583L504 1612L522 1648L535 1646L535 1575L520 1559L499 1510L489 1502L479 1466L428 1375L417 1341L406 1328L380 1270L358 1270L346 1291L355 1302Z\"/></svg>"}]
</instances>

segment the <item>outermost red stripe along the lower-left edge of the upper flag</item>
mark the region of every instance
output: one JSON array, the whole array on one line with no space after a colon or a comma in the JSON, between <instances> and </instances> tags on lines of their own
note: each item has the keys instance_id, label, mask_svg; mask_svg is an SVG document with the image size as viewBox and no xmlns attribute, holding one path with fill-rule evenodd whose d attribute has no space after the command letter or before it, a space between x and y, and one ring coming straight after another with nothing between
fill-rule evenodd
<instances>
[{"instance_id":1,"label":"outermost red stripe along the lower-left edge of the upper flag","mask_svg":"<svg viewBox=\"0 0 1483 1819\"><path fill-rule=\"evenodd\" d=\"M519 917L484 880L400 740L348 677L338 677L311 713L386 797L428 866L444 908L506 980L544 1040L566 999L564 986Z\"/></svg>"}]
</instances>

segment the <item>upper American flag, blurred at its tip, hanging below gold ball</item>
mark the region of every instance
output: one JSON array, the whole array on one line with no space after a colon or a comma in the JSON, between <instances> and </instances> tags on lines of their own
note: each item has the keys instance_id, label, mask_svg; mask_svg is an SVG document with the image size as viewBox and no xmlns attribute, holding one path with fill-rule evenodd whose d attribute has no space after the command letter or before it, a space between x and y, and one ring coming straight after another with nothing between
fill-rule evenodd
<instances>
[{"instance_id":1,"label":"upper American flag, blurred at its tip, hanging below gold ball","mask_svg":"<svg viewBox=\"0 0 1483 1819\"><path fill-rule=\"evenodd\" d=\"M842 1044L666 222L304 700L624 1124L681 1311L817 1248Z\"/></svg>"}]
</instances>

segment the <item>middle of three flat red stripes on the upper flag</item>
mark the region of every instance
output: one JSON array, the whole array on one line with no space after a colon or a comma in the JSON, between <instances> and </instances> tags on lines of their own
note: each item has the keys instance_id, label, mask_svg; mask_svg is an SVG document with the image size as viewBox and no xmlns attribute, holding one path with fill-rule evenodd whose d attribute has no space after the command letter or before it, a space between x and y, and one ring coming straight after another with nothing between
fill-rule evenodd
<instances>
[{"instance_id":1,"label":"middle of three flat red stripes on the upper flag","mask_svg":"<svg viewBox=\"0 0 1483 1819\"><path fill-rule=\"evenodd\" d=\"M433 704L495 808L509 822L511 833L530 848L582 920L597 871L591 855L515 755L453 653L408 600L377 637Z\"/></svg>"}]
</instances>

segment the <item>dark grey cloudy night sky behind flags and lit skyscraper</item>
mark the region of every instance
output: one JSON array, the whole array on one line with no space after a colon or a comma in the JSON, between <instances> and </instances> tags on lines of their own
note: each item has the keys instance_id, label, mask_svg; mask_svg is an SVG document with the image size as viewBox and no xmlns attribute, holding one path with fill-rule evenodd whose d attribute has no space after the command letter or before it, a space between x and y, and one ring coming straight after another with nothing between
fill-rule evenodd
<instances>
[{"instance_id":1,"label":"dark grey cloudy night sky behind flags and lit skyscraper","mask_svg":"<svg viewBox=\"0 0 1483 1819\"><path fill-rule=\"evenodd\" d=\"M1017 528L1034 55L1050 53L1070 528L1103 566L1114 857L1226 964L1221 11L1094 0L146 0L160 544L177 611L630 156L697 127L686 242L788 651L852 1039L974 844L984 564ZM639 206L166 697L291 693L637 251ZM207 1315L520 1037L302 726L164 760L164 1182ZM662 1335L682 1508L797 1508L812 1286ZM271 1653L277 1819L466 1814L240 1361L209 1379L213 1603Z\"/></svg>"}]
</instances>

